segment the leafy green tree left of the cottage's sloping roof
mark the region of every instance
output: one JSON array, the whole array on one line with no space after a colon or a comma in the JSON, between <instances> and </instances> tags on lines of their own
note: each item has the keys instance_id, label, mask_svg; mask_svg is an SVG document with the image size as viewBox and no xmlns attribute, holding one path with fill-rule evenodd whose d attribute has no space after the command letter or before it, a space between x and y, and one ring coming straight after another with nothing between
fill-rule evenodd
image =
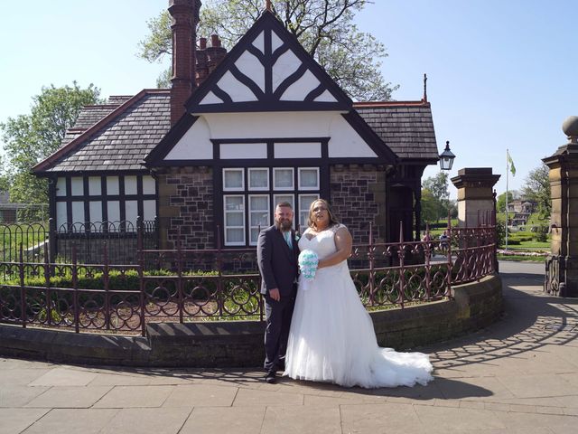
<instances>
[{"instance_id":1,"label":"leafy green tree left of the cottage's sloping roof","mask_svg":"<svg viewBox=\"0 0 578 434\"><path fill-rule=\"evenodd\" d=\"M31 169L58 150L80 109L101 102L99 95L94 85L81 89L76 81L72 86L43 87L40 95L33 97L30 114L0 123L6 160L2 178L11 202L48 203L46 180L33 175Z\"/></svg>"}]
</instances>

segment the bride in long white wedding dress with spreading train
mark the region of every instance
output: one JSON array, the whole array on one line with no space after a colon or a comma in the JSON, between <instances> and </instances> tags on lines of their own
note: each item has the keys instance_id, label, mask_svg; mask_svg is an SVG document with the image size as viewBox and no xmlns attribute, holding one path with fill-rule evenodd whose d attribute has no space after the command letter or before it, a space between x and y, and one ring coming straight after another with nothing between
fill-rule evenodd
<instances>
[{"instance_id":1,"label":"bride in long white wedding dress with spreading train","mask_svg":"<svg viewBox=\"0 0 578 434\"><path fill-rule=\"evenodd\" d=\"M319 265L312 281L300 277L284 375L365 388L433 380L427 354L378 346L347 265L350 232L337 222L326 201L312 203L299 249L314 251Z\"/></svg>"}]
</instances>

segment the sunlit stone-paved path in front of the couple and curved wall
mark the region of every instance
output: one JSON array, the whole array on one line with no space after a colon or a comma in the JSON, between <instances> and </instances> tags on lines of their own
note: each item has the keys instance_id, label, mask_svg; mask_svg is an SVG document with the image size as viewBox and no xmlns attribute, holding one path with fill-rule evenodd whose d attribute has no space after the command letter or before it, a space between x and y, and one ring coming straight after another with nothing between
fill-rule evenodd
<instances>
[{"instance_id":1,"label":"sunlit stone-paved path in front of the couple and curved wall","mask_svg":"<svg viewBox=\"0 0 578 434\"><path fill-rule=\"evenodd\" d=\"M0 359L0 433L578 432L578 300L545 297L543 270L502 262L506 315L423 348L436 368L425 387Z\"/></svg>"}]
</instances>

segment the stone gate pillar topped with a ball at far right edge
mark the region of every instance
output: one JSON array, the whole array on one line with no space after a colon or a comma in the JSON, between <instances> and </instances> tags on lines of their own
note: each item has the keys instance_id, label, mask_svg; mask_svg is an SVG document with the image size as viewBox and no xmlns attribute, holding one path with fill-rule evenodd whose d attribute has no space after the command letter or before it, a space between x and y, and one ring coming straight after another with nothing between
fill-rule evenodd
<instances>
[{"instance_id":1,"label":"stone gate pillar topped with a ball at far right edge","mask_svg":"<svg viewBox=\"0 0 578 434\"><path fill-rule=\"evenodd\" d=\"M552 241L546 259L545 291L578 297L578 117L562 125L568 143L544 158L550 168Z\"/></svg>"}]
</instances>

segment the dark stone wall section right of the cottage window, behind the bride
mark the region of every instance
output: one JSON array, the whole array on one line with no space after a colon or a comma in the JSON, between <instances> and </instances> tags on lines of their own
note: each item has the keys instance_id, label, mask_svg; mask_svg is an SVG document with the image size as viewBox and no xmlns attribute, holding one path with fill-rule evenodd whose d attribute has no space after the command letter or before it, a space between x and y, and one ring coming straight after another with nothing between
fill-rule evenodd
<instances>
[{"instance_id":1,"label":"dark stone wall section right of the cottage window, behind the bride","mask_svg":"<svg viewBox=\"0 0 578 434\"><path fill-rule=\"evenodd\" d=\"M386 168L381 165L332 165L331 207L354 243L384 242L387 228Z\"/></svg>"}]
</instances>

